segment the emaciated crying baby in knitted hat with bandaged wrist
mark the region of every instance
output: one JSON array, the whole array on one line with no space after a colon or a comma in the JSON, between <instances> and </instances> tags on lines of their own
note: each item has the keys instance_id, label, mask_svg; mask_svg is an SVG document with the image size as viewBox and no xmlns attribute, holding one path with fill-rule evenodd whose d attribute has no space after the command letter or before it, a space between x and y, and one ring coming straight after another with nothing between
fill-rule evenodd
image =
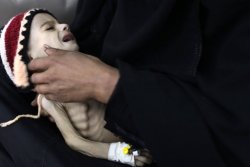
<instances>
[{"instance_id":1,"label":"emaciated crying baby in knitted hat with bandaged wrist","mask_svg":"<svg viewBox=\"0 0 250 167\"><path fill-rule=\"evenodd\" d=\"M44 9L31 9L14 16L1 30L0 52L3 66L10 80L20 90L30 90L30 71L27 64L31 59L47 56L46 47L68 51L78 51L78 45L67 24L59 23ZM131 166L144 166L151 163L146 149L133 150L104 128L105 105L94 100L84 103L59 103L38 95L38 114L19 115L15 119L0 124L6 127L19 118L39 118L45 111L54 118L66 143L74 150L96 158L117 161ZM92 140L84 138L81 122L85 117L95 115ZM75 117L73 115L83 117ZM139 154L138 154L139 152Z\"/></svg>"}]
</instances>

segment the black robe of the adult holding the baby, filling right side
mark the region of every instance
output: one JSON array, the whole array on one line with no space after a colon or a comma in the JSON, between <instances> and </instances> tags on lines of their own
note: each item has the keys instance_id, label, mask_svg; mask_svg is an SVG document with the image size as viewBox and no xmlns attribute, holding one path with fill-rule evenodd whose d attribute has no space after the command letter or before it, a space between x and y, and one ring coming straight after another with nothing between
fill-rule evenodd
<instances>
[{"instance_id":1,"label":"black robe of the adult holding the baby, filling right side","mask_svg":"<svg viewBox=\"0 0 250 167\"><path fill-rule=\"evenodd\" d=\"M250 166L249 0L82 0L81 51L117 67L107 128L159 166Z\"/></svg>"}]
</instances>

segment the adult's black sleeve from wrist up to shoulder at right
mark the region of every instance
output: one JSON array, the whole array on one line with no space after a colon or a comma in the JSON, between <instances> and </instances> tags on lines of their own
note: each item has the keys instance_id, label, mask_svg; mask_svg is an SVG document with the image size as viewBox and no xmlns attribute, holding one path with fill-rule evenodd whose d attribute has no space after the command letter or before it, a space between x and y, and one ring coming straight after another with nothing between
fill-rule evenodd
<instances>
[{"instance_id":1,"label":"adult's black sleeve from wrist up to shoulder at right","mask_svg":"<svg viewBox=\"0 0 250 167\"><path fill-rule=\"evenodd\" d=\"M202 2L193 77L119 61L107 116L144 140L160 166L250 166L249 8L248 0Z\"/></svg>"}]
</instances>

